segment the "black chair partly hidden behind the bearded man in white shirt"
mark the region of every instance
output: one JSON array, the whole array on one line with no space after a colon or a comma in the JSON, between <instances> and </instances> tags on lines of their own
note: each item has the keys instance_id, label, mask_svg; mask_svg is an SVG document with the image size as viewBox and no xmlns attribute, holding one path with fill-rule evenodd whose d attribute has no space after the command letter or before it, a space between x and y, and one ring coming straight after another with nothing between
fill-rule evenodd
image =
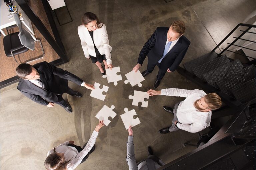
<instances>
[{"instance_id":1,"label":"black chair partly hidden behind the bearded man in white shirt","mask_svg":"<svg viewBox=\"0 0 256 170\"><path fill-rule=\"evenodd\" d=\"M189 145L189 146L199 147L204 145L219 131L218 127L214 127L214 128L209 127L209 128L210 130L207 133L204 133L202 135L200 134L200 132L197 132L199 136L199 141L197 142L197 144L190 144L189 141L187 141L182 146L186 147L187 145Z\"/></svg>"}]
</instances>

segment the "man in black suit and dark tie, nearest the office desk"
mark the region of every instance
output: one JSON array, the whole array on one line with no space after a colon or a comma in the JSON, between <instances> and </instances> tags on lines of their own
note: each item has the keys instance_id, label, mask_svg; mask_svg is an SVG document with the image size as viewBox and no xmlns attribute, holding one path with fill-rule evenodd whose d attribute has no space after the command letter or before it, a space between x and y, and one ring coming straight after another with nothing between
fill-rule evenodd
<instances>
[{"instance_id":1,"label":"man in black suit and dark tie, nearest the office desk","mask_svg":"<svg viewBox=\"0 0 256 170\"><path fill-rule=\"evenodd\" d=\"M87 89L94 89L93 85L85 83L76 75L55 67L48 62L40 62L35 65L20 64L16 68L16 74L22 78L17 89L36 103L47 107L58 104L72 113L72 108L62 98L63 93L71 96L82 97L83 95L68 87L68 80Z\"/></svg>"}]
</instances>

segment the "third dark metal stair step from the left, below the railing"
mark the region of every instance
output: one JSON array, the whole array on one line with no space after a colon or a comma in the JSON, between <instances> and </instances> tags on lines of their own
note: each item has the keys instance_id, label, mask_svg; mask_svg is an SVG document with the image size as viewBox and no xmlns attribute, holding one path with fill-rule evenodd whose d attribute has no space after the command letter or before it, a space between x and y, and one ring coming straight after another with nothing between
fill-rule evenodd
<instances>
[{"instance_id":1,"label":"third dark metal stair step from the left, below the railing","mask_svg":"<svg viewBox=\"0 0 256 170\"><path fill-rule=\"evenodd\" d=\"M211 70L203 74L203 77L207 81L207 83L211 84L214 87L217 87L217 85L215 84L216 81L219 81L224 77L230 76L242 69L243 64L239 61L239 59L236 59L232 62L216 68L215 70Z\"/></svg>"}]
</instances>

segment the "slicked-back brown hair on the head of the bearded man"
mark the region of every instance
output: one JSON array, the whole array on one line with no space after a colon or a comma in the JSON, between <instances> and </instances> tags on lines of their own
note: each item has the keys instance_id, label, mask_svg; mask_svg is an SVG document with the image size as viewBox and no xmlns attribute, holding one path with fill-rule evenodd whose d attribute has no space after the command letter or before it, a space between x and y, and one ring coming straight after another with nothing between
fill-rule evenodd
<instances>
[{"instance_id":1,"label":"slicked-back brown hair on the head of the bearded man","mask_svg":"<svg viewBox=\"0 0 256 170\"><path fill-rule=\"evenodd\" d=\"M205 95L204 101L211 110L216 110L221 107L221 98L216 93L209 93Z\"/></svg>"}]
</instances>

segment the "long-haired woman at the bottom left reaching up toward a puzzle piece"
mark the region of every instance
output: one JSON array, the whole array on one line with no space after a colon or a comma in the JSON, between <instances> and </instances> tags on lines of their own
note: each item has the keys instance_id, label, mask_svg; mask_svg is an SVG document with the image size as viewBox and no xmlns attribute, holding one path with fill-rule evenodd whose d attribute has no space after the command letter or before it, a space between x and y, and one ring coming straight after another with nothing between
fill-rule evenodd
<instances>
[{"instance_id":1,"label":"long-haired woman at the bottom left reaching up toward a puzzle piece","mask_svg":"<svg viewBox=\"0 0 256 170\"><path fill-rule=\"evenodd\" d=\"M74 141L70 140L48 151L47 158L44 161L45 168L47 170L75 169L88 158L88 154L94 151L96 138L100 128L103 126L103 121L100 121L83 149L80 146L74 145Z\"/></svg>"}]
</instances>

